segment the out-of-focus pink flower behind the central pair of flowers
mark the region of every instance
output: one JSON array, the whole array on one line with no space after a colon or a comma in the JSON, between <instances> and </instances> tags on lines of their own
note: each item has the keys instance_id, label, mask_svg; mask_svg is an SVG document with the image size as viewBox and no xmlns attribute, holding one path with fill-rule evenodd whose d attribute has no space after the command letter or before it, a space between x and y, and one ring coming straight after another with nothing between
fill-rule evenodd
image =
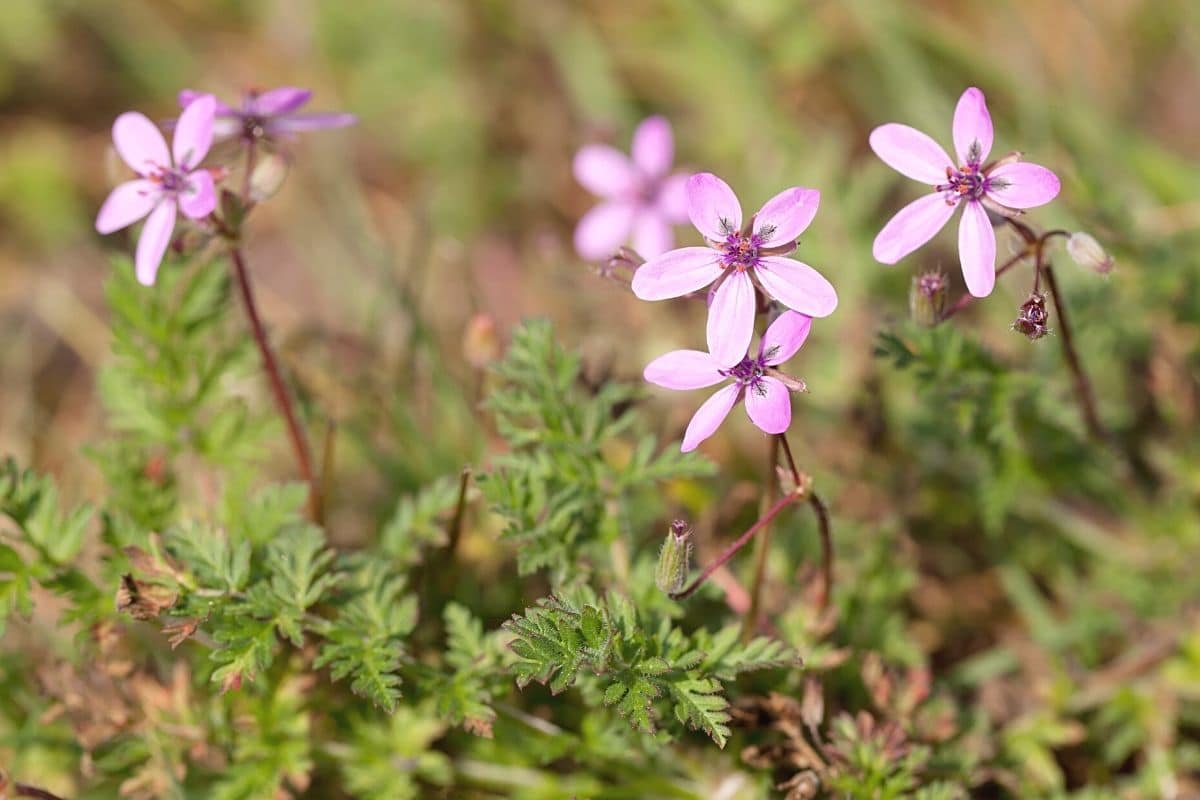
<instances>
[{"instance_id":1,"label":"out-of-focus pink flower behind the central pair of flowers","mask_svg":"<svg viewBox=\"0 0 1200 800\"><path fill-rule=\"evenodd\" d=\"M661 116L634 131L632 158L589 144L575 154L575 180L601 198L575 227L575 249L588 260L607 258L631 242L642 258L674 246L671 225L688 221L685 174L668 175L674 157L671 124Z\"/></svg>"}]
</instances>

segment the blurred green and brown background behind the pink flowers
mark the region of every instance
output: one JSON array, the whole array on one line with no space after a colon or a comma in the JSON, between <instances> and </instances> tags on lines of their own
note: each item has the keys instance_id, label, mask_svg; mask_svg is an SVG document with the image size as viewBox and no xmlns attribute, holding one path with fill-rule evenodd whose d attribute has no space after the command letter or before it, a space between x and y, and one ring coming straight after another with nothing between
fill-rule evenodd
<instances>
[{"instance_id":1,"label":"blurred green and brown background behind the pink flowers","mask_svg":"<svg viewBox=\"0 0 1200 800\"><path fill-rule=\"evenodd\" d=\"M96 423L92 372L107 350L100 285L126 246L91 228L121 176L109 127L126 109L172 115L184 86L227 98L312 86L314 109L361 118L299 143L286 190L253 225L265 315L293 357L338 337L403 351L419 331L454 361L475 311L502 330L553 317L623 375L698 345L700 309L634 302L570 248L592 204L572 152L594 140L626 148L650 113L674 124L682 166L721 174L748 206L787 185L821 188L800 255L841 306L798 362L812 390L800 435L821 447L874 369L876 330L904 314L908 276L942 266L959 281L950 233L896 267L872 261L871 237L916 187L870 154L866 133L905 121L948 142L967 85L988 95L997 152L1021 149L1063 176L1039 221L1082 227L1117 253L1106 283L1063 270L1066 290L1099 312L1081 323L1085 356L1121 347L1105 314L1163 337L1168 361L1194 347L1194 319L1170 330L1138 299L1154 281L1156 300L1186 291L1195 302L1194 269L1150 272L1196 258L1198 54L1200 6L1186 0L6 0L0 450L90 480L78 447ZM961 324L1037 369L1056 354L1007 331L1026 290L1016 283ZM1194 384L1181 366L1160 365L1160 379ZM1126 413L1109 399L1128 378L1097 375L1110 419ZM337 391L337 375L318 381ZM334 415L336 399L324 401ZM686 405L672 401L671 426ZM713 446L720 456L756 441L737 425Z\"/></svg>"}]
</instances>

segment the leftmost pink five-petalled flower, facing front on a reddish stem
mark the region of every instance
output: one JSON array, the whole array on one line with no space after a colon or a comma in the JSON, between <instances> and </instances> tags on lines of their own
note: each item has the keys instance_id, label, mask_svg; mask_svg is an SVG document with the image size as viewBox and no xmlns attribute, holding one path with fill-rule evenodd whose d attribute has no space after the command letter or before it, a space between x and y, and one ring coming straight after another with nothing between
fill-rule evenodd
<instances>
[{"instance_id":1,"label":"leftmost pink five-petalled flower, facing front on a reddish stem","mask_svg":"<svg viewBox=\"0 0 1200 800\"><path fill-rule=\"evenodd\" d=\"M205 95L180 115L170 150L144 114L126 112L113 124L113 144L137 179L114 188L96 215L96 230L110 234L146 217L134 263L138 281L151 285L162 263L176 210L191 219L212 213L217 204L212 174L197 166L212 144L216 100Z\"/></svg>"}]
</instances>

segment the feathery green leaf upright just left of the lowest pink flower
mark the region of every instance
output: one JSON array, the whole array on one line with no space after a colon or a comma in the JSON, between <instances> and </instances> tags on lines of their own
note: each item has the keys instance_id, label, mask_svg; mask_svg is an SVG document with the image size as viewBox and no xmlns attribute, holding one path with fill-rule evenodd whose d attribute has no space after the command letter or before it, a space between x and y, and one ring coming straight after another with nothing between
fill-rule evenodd
<instances>
[{"instance_id":1,"label":"feathery green leaf upright just left of the lowest pink flower","mask_svg":"<svg viewBox=\"0 0 1200 800\"><path fill-rule=\"evenodd\" d=\"M563 349L546 321L515 331L496 377L500 385L487 404L511 452L480 485L505 519L503 535L518 548L522 575L547 570L556 584L582 577L620 535L612 507L643 509L655 483L712 473L695 455L655 455L653 437L614 464L608 450L634 423L634 390L582 385L578 356Z\"/></svg>"}]
</instances>

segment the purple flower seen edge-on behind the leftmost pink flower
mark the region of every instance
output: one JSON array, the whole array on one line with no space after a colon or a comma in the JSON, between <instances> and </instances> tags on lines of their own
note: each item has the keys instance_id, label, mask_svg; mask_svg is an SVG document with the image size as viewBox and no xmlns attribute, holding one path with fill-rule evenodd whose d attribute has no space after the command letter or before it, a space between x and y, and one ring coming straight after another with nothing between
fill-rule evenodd
<instances>
[{"instance_id":1,"label":"purple flower seen edge-on behind the leftmost pink flower","mask_svg":"<svg viewBox=\"0 0 1200 800\"><path fill-rule=\"evenodd\" d=\"M179 92L179 107L187 108L198 91L185 89ZM242 137L247 140L282 139L302 131L341 128L354 125L354 114L322 114L300 112L300 107L312 98L307 89L280 86L266 91L248 90L241 97L241 107L232 108L217 102L214 134L218 139Z\"/></svg>"}]
</instances>

